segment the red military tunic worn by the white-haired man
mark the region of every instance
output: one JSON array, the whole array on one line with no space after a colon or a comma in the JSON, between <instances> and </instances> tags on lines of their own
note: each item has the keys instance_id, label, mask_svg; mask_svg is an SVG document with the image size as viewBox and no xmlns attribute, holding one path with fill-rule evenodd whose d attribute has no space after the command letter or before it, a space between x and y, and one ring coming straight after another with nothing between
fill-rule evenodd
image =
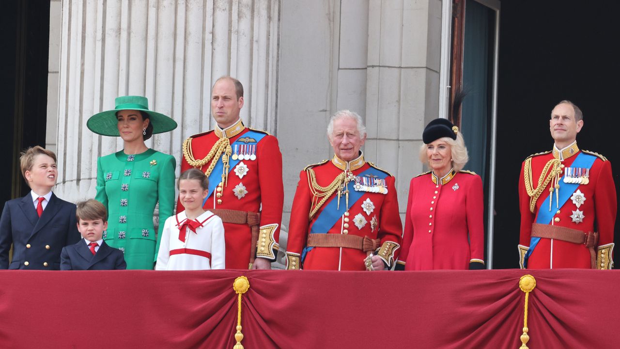
<instances>
[{"instance_id":1,"label":"red military tunic worn by the white-haired man","mask_svg":"<svg viewBox=\"0 0 620 349\"><path fill-rule=\"evenodd\" d=\"M370 171L367 171L369 169ZM342 194L339 206L332 206L331 209L334 209L334 207L344 207L343 211L345 212L337 216L336 222L329 221L325 225L329 226L327 231L319 229L321 231L311 233L313 227L316 229L316 227L323 226L320 218L321 214L324 210L330 210L330 204L337 205L337 200L339 199L338 193L335 191L319 207L312 219L309 219L309 213L322 198L314 196L312 193L321 194L325 192L317 190L316 186L312 184L312 173L314 173L317 186L326 187L333 183L334 179L339 174L342 174L343 171L345 174L352 173L356 176L356 179L360 180L360 184L368 184L370 183L369 179L376 178L376 176L369 174L369 172L380 171L385 177L383 181L384 186L381 188L387 189L387 191L384 193L374 193L372 191L375 189L368 189L370 188L368 186L358 186L355 189L356 195L361 194L361 196L355 202L349 202L350 208L348 210L346 210L347 199L345 194ZM362 175L360 176L360 174ZM364 178L362 179L362 177ZM350 178L353 179L353 176L350 176ZM331 161L325 160L317 165L308 166L304 171L301 171L297 191L293 199L293 208L291 209L291 222L286 246L287 269L299 269L301 267L301 255L304 248L307 247L309 235L316 235L317 237L322 235L319 237L322 238L332 234L379 239L378 245L380 248L376 248L373 253L382 258L388 266L392 265L401 246L402 232L394 181L394 177L389 173L374 167L370 163L366 163L363 155L348 163L334 156ZM350 188L354 188L353 184L349 185L351 186ZM365 189L358 190L359 188ZM353 197L352 194L351 196ZM317 221L319 224L317 224ZM317 224L316 227L314 226L315 224ZM366 255L366 252L356 248L312 247L305 255L303 269L365 270L364 260Z\"/></svg>"}]
</instances>

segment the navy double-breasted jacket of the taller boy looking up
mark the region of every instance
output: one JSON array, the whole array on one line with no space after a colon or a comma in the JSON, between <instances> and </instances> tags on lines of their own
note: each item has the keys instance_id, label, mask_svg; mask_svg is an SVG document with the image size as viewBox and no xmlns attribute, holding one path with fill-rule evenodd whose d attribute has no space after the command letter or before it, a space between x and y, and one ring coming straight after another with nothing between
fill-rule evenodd
<instances>
[{"instance_id":1,"label":"navy double-breasted jacket of the taller boy looking up","mask_svg":"<svg viewBox=\"0 0 620 349\"><path fill-rule=\"evenodd\" d=\"M52 193L39 217L30 193L9 200L0 217L0 269L60 270L60 252L79 238L75 204Z\"/></svg>"}]
</instances>

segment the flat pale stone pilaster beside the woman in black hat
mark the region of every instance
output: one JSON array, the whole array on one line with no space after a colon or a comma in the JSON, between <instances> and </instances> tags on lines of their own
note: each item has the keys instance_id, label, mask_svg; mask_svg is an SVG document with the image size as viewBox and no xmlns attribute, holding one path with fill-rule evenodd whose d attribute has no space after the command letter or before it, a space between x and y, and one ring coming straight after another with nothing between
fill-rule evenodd
<instances>
[{"instance_id":1,"label":"flat pale stone pilaster beside the woman in black hat","mask_svg":"<svg viewBox=\"0 0 620 349\"><path fill-rule=\"evenodd\" d=\"M396 176L404 218L425 124L438 117L441 1L371 0L366 157Z\"/></svg>"}]
</instances>

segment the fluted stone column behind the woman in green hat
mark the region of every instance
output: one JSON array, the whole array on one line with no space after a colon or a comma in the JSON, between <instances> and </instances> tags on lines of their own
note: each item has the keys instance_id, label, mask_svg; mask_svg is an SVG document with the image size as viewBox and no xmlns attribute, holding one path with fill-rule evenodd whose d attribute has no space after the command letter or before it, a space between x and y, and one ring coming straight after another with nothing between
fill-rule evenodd
<instances>
[{"instance_id":1,"label":"fluted stone column behind the woman in green hat","mask_svg":"<svg viewBox=\"0 0 620 349\"><path fill-rule=\"evenodd\" d=\"M213 127L211 86L222 75L244 84L244 122L275 133L279 11L279 0L63 0L56 193L94 197L97 157L123 144L86 120L117 96L146 96L177 121L147 141L177 165L182 140Z\"/></svg>"}]
</instances>

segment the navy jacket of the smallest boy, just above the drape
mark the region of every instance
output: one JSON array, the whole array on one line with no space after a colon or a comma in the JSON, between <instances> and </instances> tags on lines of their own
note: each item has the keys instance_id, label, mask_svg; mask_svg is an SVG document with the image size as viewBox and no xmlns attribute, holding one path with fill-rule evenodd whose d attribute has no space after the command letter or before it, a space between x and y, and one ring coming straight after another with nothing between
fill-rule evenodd
<instances>
[{"instance_id":1,"label":"navy jacket of the smallest boy, just above the drape","mask_svg":"<svg viewBox=\"0 0 620 349\"><path fill-rule=\"evenodd\" d=\"M127 263L123 252L102 242L94 255L84 239L63 248L60 270L125 270Z\"/></svg>"}]
</instances>

